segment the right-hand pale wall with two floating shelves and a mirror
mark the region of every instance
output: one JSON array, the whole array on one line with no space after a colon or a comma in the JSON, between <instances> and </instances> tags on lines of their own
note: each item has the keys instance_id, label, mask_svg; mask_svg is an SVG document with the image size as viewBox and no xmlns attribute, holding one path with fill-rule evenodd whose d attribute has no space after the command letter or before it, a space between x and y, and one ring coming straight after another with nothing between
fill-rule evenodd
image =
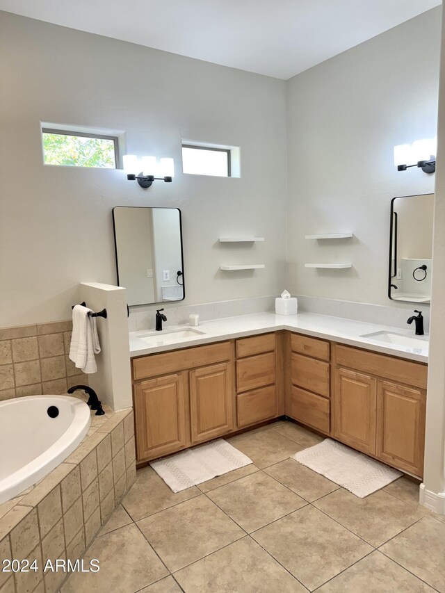
<instances>
[{"instance_id":1,"label":"right-hand pale wall with two floating shelves and a mirror","mask_svg":"<svg viewBox=\"0 0 445 593\"><path fill-rule=\"evenodd\" d=\"M393 151L436 135L440 11L423 13L289 81L287 261L293 293L391 305L391 198L434 190L434 175L398 172ZM305 240L307 234L341 231L355 236ZM353 268L305 268L323 261L352 262Z\"/></svg>"}]
</instances>

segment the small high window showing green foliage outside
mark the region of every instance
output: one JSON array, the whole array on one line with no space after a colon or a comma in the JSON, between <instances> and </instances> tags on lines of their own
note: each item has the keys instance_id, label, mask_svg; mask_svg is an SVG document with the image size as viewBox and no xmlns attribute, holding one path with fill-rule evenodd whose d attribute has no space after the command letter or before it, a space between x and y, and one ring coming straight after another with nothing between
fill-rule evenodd
<instances>
[{"instance_id":1,"label":"small high window showing green foliage outside","mask_svg":"<svg viewBox=\"0 0 445 593\"><path fill-rule=\"evenodd\" d=\"M95 133L42 128L45 165L119 167L118 138Z\"/></svg>"}]
</instances>

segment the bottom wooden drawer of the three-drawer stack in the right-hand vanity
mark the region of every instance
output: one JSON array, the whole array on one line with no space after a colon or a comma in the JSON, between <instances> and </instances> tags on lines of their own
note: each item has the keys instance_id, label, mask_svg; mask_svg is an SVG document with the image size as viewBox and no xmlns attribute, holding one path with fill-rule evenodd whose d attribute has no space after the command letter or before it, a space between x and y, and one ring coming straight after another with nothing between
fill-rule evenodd
<instances>
[{"instance_id":1,"label":"bottom wooden drawer of the three-drawer stack in the right-hand vanity","mask_svg":"<svg viewBox=\"0 0 445 593\"><path fill-rule=\"evenodd\" d=\"M316 396L304 389L292 386L291 418L302 424L311 426L321 432L329 433L330 429L330 400Z\"/></svg>"}]
</instances>

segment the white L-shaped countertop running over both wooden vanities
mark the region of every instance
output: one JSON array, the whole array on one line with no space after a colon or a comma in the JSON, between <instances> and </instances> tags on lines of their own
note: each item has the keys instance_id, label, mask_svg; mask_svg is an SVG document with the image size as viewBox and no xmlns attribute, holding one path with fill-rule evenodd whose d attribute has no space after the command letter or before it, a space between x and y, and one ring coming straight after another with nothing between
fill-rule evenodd
<instances>
[{"instance_id":1,"label":"white L-shaped countertop running over both wooden vanities","mask_svg":"<svg viewBox=\"0 0 445 593\"><path fill-rule=\"evenodd\" d=\"M163 331L167 334L169 330L186 330L188 327L188 325L172 326L165 324ZM415 336L412 327L403 330L400 327L376 325L375 323L364 323L363 321L314 313L299 313L298 315L289 316L275 315L275 313L241 315L204 321L191 329L199 330L200 332L204 332L204 334L197 334L196 336L178 339L177 341L172 341L172 334L170 334L168 343L162 343L162 332L153 332L152 330L130 332L130 355L131 357L137 357L155 354L156 352L166 352L167 350L177 350L178 348L188 348L190 346L199 346L200 344L241 338L243 336L289 330L307 336L347 344L348 346L366 348L366 350L373 350L374 352L383 352L384 354L401 358L428 362L428 335ZM398 344L382 343L370 337L362 337L362 334L371 334L373 332L391 332L398 334L398 336L415 337L423 341L425 346L422 348L401 346ZM143 336L147 336L147 334L156 334L155 346L143 341Z\"/></svg>"}]
</instances>

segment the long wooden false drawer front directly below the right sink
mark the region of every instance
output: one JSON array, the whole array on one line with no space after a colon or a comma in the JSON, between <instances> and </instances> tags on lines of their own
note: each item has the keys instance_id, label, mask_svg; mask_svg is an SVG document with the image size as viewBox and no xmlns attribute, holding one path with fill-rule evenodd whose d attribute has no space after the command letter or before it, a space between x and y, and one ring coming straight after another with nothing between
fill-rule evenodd
<instances>
[{"instance_id":1,"label":"long wooden false drawer front directly below the right sink","mask_svg":"<svg viewBox=\"0 0 445 593\"><path fill-rule=\"evenodd\" d=\"M338 366L356 368L371 375L385 377L414 387L426 389L428 366L393 356L366 352L358 348L334 346L335 363Z\"/></svg>"}]
</instances>

